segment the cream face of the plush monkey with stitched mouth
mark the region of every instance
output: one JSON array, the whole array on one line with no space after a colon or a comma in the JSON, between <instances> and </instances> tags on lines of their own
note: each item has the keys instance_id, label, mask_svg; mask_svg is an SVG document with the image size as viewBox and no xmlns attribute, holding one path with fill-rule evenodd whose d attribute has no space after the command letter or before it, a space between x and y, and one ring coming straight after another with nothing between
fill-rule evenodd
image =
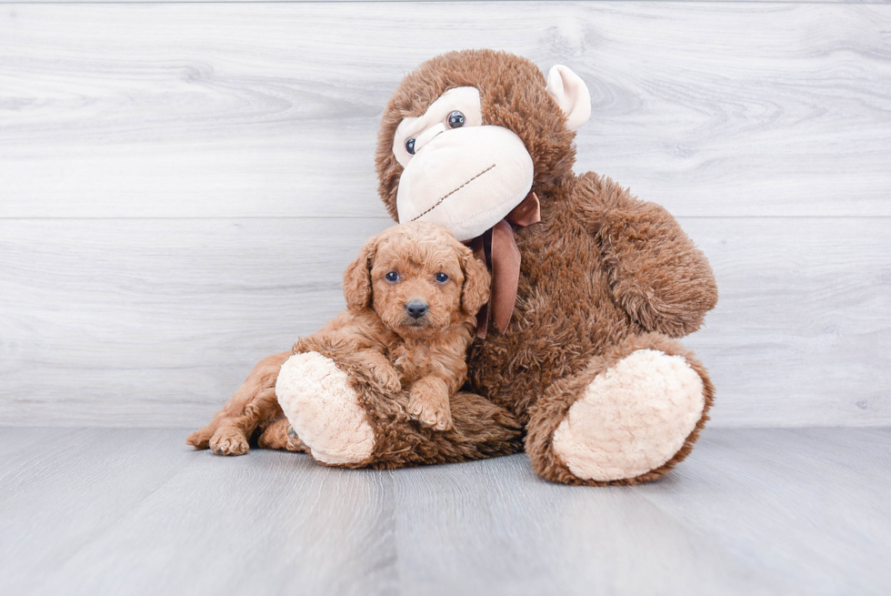
<instances>
[{"instance_id":1,"label":"cream face of the plush monkey with stitched mouth","mask_svg":"<svg viewBox=\"0 0 891 596\"><path fill-rule=\"evenodd\" d=\"M477 237L532 188L534 166L523 140L504 126L484 126L476 87L446 91L419 117L396 128L399 221L429 221L459 240Z\"/></svg>"}]
</instances>

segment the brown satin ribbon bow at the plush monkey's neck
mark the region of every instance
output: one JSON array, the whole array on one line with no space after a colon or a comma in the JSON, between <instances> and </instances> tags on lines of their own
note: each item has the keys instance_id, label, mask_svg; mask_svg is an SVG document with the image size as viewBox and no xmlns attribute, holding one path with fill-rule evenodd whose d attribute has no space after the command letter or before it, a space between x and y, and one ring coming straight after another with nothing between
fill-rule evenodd
<instances>
[{"instance_id":1,"label":"brown satin ribbon bow at the plush monkey's neck","mask_svg":"<svg viewBox=\"0 0 891 596\"><path fill-rule=\"evenodd\" d=\"M516 286L520 281L520 249L516 246L514 226L526 227L541 221L541 206L536 193L529 193L507 216L465 244L476 258L486 261L492 272L492 291L486 306L476 314L476 336L486 337L489 322L505 332L516 304Z\"/></svg>"}]
</instances>

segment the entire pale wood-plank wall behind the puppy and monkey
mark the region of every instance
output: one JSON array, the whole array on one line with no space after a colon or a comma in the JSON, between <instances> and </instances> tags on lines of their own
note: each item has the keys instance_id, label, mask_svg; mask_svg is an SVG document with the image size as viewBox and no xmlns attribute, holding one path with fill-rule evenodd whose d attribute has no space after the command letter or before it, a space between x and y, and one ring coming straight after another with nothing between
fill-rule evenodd
<instances>
[{"instance_id":1,"label":"entire pale wood-plank wall behind the puppy and monkey","mask_svg":"<svg viewBox=\"0 0 891 596\"><path fill-rule=\"evenodd\" d=\"M590 86L577 169L671 209L716 426L891 423L891 6L0 6L0 422L192 426L343 302L377 119L488 46Z\"/></svg>"}]
</instances>

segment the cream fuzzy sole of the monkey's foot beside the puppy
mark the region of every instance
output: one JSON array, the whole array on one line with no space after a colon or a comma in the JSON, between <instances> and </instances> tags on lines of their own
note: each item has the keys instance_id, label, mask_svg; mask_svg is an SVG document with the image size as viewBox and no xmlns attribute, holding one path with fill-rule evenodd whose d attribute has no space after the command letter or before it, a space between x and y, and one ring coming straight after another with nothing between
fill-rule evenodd
<instances>
[{"instance_id":1,"label":"cream fuzzy sole of the monkey's foot beside the puppy","mask_svg":"<svg viewBox=\"0 0 891 596\"><path fill-rule=\"evenodd\" d=\"M334 360L318 352L295 354L282 365L275 394L315 460L332 466L370 460L375 433Z\"/></svg>"}]
</instances>

